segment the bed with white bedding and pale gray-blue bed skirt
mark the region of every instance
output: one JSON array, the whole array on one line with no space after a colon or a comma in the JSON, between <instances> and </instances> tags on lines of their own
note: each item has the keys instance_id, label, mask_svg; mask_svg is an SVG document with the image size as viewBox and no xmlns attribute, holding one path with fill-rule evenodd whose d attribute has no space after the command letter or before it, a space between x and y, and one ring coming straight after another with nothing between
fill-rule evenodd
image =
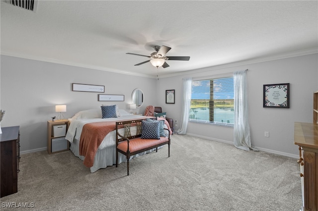
<instances>
[{"instance_id":1,"label":"bed with white bedding and pale gray-blue bed skirt","mask_svg":"<svg viewBox=\"0 0 318 211\"><path fill-rule=\"evenodd\" d=\"M95 152L93 152L93 160L91 161L92 165L87 165L87 162L85 163L85 159L87 159L89 156L82 156L81 152L81 141L84 140L84 135L81 137L84 125L87 128L88 123L98 123L98 124L114 124L116 121L121 120L131 120L131 119L141 119L141 118L147 118L146 116L140 116L140 115L134 115L131 113L128 113L124 109L118 109L116 107L116 117L104 117L102 114L103 111L101 109L88 109L79 111L77 114L75 114L72 118L69 119L70 125L69 129L66 134L66 139L71 143L70 150L73 152L73 154L76 157L79 157L81 160L83 160L83 164L86 167L90 168L90 172L93 173L97 171L100 168L106 168L107 166L111 166L116 163L116 131L112 130L110 131L101 141L100 145L98 145L98 149ZM160 120L164 120L164 128L168 128L170 131L170 134L172 134L172 131L169 127L168 122L165 119L158 118ZM84 128L84 130L86 129ZM121 130L124 131L124 128ZM87 132L87 130L86 130ZM132 133L136 132L136 128L132 127ZM167 135L167 134L165 134ZM82 139L81 139L82 138ZM149 150L144 153L137 154L135 156L131 156L130 159L145 155L147 153L151 153L155 151L156 149ZM88 152L89 153L89 152ZM118 156L118 163L126 162L127 158L119 154Z\"/></svg>"}]
</instances>

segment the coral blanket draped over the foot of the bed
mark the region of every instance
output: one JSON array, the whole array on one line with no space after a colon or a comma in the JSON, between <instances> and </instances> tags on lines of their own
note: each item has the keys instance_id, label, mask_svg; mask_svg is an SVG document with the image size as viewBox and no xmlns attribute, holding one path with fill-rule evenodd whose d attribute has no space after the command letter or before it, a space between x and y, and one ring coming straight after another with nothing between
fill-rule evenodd
<instances>
[{"instance_id":1,"label":"coral blanket draped over the foot of the bed","mask_svg":"<svg viewBox=\"0 0 318 211\"><path fill-rule=\"evenodd\" d=\"M83 164L86 167L93 166L100 143L109 132L115 129L116 121L93 122L83 126L79 141L79 155L85 157Z\"/></svg>"}]
</instances>

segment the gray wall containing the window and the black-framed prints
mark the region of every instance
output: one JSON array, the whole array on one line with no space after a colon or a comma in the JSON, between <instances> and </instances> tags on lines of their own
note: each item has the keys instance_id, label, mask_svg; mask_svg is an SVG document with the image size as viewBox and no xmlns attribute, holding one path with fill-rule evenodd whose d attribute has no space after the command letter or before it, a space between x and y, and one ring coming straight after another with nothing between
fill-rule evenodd
<instances>
[{"instance_id":1,"label":"gray wall containing the window and the black-framed prints","mask_svg":"<svg viewBox=\"0 0 318 211\"><path fill-rule=\"evenodd\" d=\"M251 144L262 151L297 158L294 122L313 122L313 93L318 90L318 54L310 54L160 79L158 102L167 116L180 121L182 78L210 76L248 69L247 89ZM208 69L208 68L207 68ZM263 85L290 83L290 108L263 108ZM175 104L165 104L165 90L175 89ZM178 123L180 127L180 123ZM264 137L264 131L269 137ZM187 133L211 140L233 143L233 128L189 122Z\"/></svg>"}]
</instances>

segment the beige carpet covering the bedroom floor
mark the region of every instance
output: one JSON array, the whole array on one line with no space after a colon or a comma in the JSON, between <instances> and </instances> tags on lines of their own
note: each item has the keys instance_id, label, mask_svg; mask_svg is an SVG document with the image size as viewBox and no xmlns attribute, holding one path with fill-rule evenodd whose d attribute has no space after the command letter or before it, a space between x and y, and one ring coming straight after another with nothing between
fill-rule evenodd
<instances>
[{"instance_id":1,"label":"beige carpet covering the bedroom floor","mask_svg":"<svg viewBox=\"0 0 318 211\"><path fill-rule=\"evenodd\" d=\"M23 144L23 143L21 143ZM297 160L191 136L90 173L71 151L22 155L18 193L3 203L36 211L299 211Z\"/></svg>"}]
</instances>

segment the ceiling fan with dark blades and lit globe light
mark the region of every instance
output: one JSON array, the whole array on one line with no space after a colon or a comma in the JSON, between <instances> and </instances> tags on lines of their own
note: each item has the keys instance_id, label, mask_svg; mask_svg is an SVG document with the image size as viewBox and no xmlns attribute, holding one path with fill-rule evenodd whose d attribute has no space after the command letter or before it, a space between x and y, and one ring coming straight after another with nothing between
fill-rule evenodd
<instances>
[{"instance_id":1,"label":"ceiling fan with dark blades and lit globe light","mask_svg":"<svg viewBox=\"0 0 318 211\"><path fill-rule=\"evenodd\" d=\"M150 56L149 55L141 55L141 54L136 54L136 53L126 53L126 54L132 54L132 55L140 55L140 56L146 56L148 58L150 58L150 60L148 61L144 61L138 64L135 64L134 66L138 66L141 64L145 64L147 62L151 62L151 64L155 67L169 67L169 65L165 62L166 60L180 60L180 61L188 61L190 60L190 56L165 56L166 53L168 53L168 51L170 51L170 47L166 47L166 46L155 46L154 47L155 51L154 53L151 53Z\"/></svg>"}]
</instances>

